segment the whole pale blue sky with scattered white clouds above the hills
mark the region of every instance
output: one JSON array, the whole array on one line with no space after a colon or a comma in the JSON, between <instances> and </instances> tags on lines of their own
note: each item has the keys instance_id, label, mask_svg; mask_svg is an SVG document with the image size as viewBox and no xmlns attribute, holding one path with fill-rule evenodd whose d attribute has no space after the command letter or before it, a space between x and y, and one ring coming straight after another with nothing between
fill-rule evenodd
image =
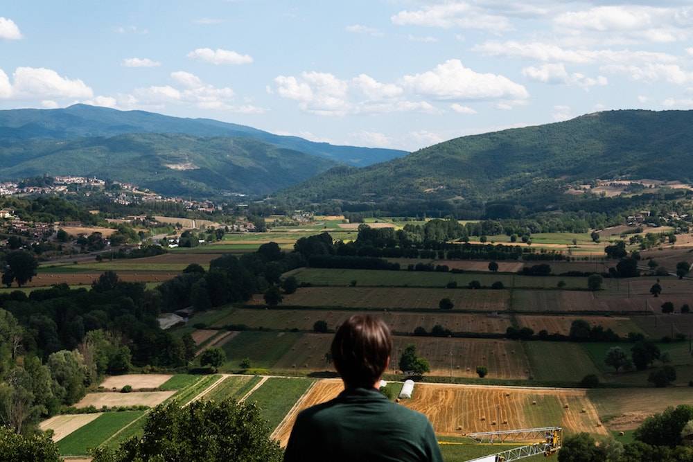
<instances>
[{"instance_id":1,"label":"whole pale blue sky with scattered white clouds above the hills","mask_svg":"<svg viewBox=\"0 0 693 462\"><path fill-rule=\"evenodd\" d=\"M0 109L89 103L415 150L693 107L690 1L3 2Z\"/></svg>"}]
</instances>

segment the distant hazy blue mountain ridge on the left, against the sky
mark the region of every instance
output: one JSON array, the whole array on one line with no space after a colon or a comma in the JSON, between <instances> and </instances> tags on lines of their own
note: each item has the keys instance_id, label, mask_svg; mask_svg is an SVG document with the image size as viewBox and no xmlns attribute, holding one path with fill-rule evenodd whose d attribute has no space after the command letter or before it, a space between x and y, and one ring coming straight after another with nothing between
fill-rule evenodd
<instances>
[{"instance_id":1,"label":"distant hazy blue mountain ridge on the left, against the sky","mask_svg":"<svg viewBox=\"0 0 693 462\"><path fill-rule=\"evenodd\" d=\"M331 159L352 166L401 157L391 149L315 143L297 136L280 136L245 125L207 118L179 118L145 111L119 111L107 107L73 105L64 109L10 109L0 111L0 143L28 139L75 139L130 133L177 133L193 136L234 136Z\"/></svg>"}]
</instances>

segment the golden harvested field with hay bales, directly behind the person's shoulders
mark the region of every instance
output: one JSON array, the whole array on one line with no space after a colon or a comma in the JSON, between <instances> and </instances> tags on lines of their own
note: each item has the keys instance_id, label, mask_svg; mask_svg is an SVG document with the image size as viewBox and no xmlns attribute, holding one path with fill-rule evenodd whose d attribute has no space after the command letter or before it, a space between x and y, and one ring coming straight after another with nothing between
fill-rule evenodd
<instances>
[{"instance_id":1,"label":"golden harvested field with hay bales, directly behind the person's shoulders","mask_svg":"<svg viewBox=\"0 0 693 462\"><path fill-rule=\"evenodd\" d=\"M284 418L274 437L286 445L297 414L335 398L342 389L340 380L317 382ZM412 399L401 400L400 404L428 417L438 435L552 425L562 426L567 433L607 434L586 391L579 389L419 383Z\"/></svg>"}]
</instances>

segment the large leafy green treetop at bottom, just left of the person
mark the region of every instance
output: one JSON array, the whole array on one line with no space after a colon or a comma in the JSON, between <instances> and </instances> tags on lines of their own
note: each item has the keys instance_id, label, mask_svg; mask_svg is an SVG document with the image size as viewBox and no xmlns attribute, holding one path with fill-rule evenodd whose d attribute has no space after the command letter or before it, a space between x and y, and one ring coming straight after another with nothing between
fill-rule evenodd
<instances>
[{"instance_id":1,"label":"large leafy green treetop at bottom, just left of the person","mask_svg":"<svg viewBox=\"0 0 693 462\"><path fill-rule=\"evenodd\" d=\"M198 400L186 407L159 405L148 414L144 435L115 450L101 447L94 462L281 462L282 451L255 403Z\"/></svg>"}]
</instances>

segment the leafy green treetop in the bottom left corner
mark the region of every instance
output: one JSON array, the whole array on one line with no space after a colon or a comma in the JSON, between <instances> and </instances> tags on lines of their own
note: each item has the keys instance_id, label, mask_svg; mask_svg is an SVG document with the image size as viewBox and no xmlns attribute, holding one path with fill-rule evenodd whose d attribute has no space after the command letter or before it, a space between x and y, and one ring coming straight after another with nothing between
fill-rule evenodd
<instances>
[{"instance_id":1,"label":"leafy green treetop in the bottom left corner","mask_svg":"<svg viewBox=\"0 0 693 462\"><path fill-rule=\"evenodd\" d=\"M48 434L23 436L0 425L0 462L61 462L58 445Z\"/></svg>"}]
</instances>

